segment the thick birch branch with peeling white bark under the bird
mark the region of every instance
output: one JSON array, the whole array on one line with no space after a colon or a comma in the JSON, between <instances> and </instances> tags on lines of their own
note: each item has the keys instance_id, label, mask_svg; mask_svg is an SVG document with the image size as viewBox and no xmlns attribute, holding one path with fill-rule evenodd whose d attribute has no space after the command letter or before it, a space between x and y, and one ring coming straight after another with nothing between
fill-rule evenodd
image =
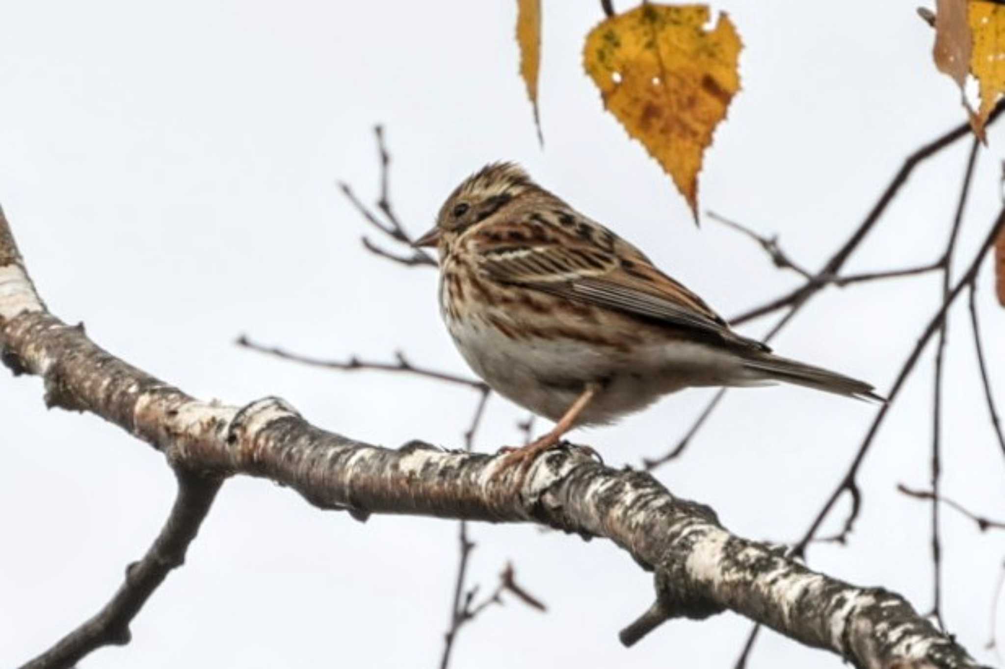
<instances>
[{"instance_id":1,"label":"thick birch branch with peeling white bark under the bird","mask_svg":"<svg viewBox=\"0 0 1005 669\"><path fill-rule=\"evenodd\" d=\"M202 402L99 349L49 314L0 212L0 360L40 376L49 406L86 411L182 470L245 474L289 486L321 508L537 522L607 537L655 573L656 603L622 633L633 643L665 620L726 609L856 667L977 667L898 595L814 573L783 548L731 534L708 506L644 472L597 463L589 449L544 453L523 486L493 478L499 458L412 441L399 449L325 432L278 398Z\"/></svg>"}]
</instances>

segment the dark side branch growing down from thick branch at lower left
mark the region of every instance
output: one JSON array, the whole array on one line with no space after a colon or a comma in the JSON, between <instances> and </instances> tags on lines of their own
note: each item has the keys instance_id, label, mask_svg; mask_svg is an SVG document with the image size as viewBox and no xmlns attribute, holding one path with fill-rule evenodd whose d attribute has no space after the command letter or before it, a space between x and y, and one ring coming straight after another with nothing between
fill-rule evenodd
<instances>
[{"instance_id":1,"label":"dark side branch growing down from thick branch at lower left","mask_svg":"<svg viewBox=\"0 0 1005 669\"><path fill-rule=\"evenodd\" d=\"M103 646L124 646L132 638L130 623L168 574L185 563L185 552L209 513L222 479L176 469L178 494L171 514L138 563L126 569L126 581L93 617L60 639L22 669L62 669Z\"/></svg>"}]
</instances>

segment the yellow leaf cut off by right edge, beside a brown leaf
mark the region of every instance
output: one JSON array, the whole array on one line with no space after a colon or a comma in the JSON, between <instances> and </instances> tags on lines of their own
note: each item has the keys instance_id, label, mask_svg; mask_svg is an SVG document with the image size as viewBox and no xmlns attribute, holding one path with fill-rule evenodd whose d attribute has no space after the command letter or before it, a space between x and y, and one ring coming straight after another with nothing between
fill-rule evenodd
<instances>
[{"instance_id":1,"label":"yellow leaf cut off by right edge, beside a brown leaf","mask_svg":"<svg viewBox=\"0 0 1005 669\"><path fill-rule=\"evenodd\" d=\"M972 124L983 139L984 124L1005 92L1005 6L973 0L969 3L968 22L974 34L970 71L981 85L981 105Z\"/></svg>"}]
</instances>

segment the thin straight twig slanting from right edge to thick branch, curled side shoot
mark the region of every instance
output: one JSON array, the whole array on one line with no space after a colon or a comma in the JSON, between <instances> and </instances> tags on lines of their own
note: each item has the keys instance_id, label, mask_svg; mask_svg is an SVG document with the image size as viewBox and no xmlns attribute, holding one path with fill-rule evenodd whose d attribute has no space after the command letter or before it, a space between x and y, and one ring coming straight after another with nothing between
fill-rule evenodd
<instances>
[{"instance_id":1,"label":"thin straight twig slanting from right edge to thick branch, curled side shoot","mask_svg":"<svg viewBox=\"0 0 1005 669\"><path fill-rule=\"evenodd\" d=\"M991 249L991 246L994 244L995 237L997 236L998 232L1003 227L1005 227L1005 209L1003 209L1001 213L999 213L998 218L991 226L991 230L988 236L985 238L984 242L981 244L981 247L975 254L974 259L972 260L970 266L967 269L967 272L964 274L963 278L961 278L956 283L956 285L953 286L953 289L950 291L946 300L936 311L935 315L933 315L932 318L929 320L928 324L926 325L925 329L922 332L921 339L919 339L918 343L915 345L914 350L911 352L911 355L908 357L907 361L904 361L903 365L900 367L900 372L897 374L896 380L893 382L893 386L886 396L887 397L886 403L883 404L879 408L879 411L876 413L876 417L875 419L873 419L872 424L869 426L868 432L865 434L862 443L859 445L858 451L855 453L855 457L852 459L848 471L844 474L844 477L841 479L840 483L838 483L838 485L831 492L831 495L827 499L826 503L824 503L823 508L820 509L816 517L813 519L813 522L810 524L809 529L806 531L806 533L803 535L803 537L799 540L799 542L793 549L793 553L795 555L798 556L805 555L807 544L816 536L816 532L820 528L820 524L823 522L824 518L827 517L827 514L830 513L830 510L834 507L834 503L841 496L841 493L850 490L854 485L855 476L858 473L858 467L861 465L866 452L868 452L869 447L872 445L872 441L875 438L875 435L878 432L879 426L882 424L883 419L886 417L887 412L893 406L893 401L896 399L897 394L903 387L903 384L908 380L908 377L910 377L911 373L914 371L915 365L918 363L918 359L921 357L922 352L925 350L926 345L932 339L932 336L935 333L935 331L941 326L943 318L946 317L946 312L949 310L949 307L952 306L953 302L956 301L957 296L977 276L977 271L978 269L980 269L981 262L984 260L988 251ZM840 537L846 536L848 532L851 531L851 526L854 523L857 516L858 516L858 509L853 508L852 511L849 513L848 517L845 519L844 526L838 533L838 536Z\"/></svg>"}]
</instances>

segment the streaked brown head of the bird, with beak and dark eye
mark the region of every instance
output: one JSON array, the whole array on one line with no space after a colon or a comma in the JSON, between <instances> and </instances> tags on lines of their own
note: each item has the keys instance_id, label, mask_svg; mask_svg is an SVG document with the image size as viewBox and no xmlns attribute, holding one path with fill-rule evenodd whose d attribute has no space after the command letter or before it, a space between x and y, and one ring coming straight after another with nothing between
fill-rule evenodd
<instances>
[{"instance_id":1,"label":"streaked brown head of the bird, with beak and dark eye","mask_svg":"<svg viewBox=\"0 0 1005 669\"><path fill-rule=\"evenodd\" d=\"M490 163L460 183L440 207L436 225L414 246L449 248L457 237L485 224L531 191L540 190L516 163Z\"/></svg>"}]
</instances>

